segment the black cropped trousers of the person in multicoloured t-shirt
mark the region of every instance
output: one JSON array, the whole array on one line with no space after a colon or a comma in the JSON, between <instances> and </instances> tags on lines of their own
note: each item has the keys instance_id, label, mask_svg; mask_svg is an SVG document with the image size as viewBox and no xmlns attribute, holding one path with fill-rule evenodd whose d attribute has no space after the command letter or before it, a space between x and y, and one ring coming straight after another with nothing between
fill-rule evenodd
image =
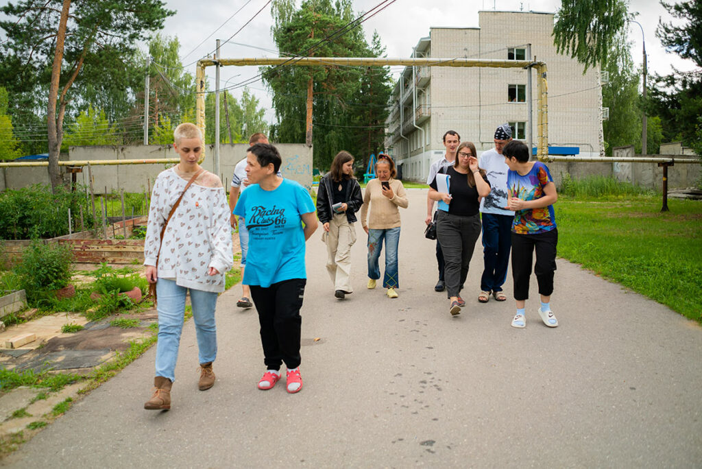
<instances>
[{"instance_id":1,"label":"black cropped trousers of the person in multicoloured t-shirt","mask_svg":"<svg viewBox=\"0 0 702 469\"><path fill-rule=\"evenodd\" d=\"M529 277L536 251L534 273L538 282L538 293L550 296L553 293L553 272L556 270L556 246L558 230L538 234L512 232L512 280L515 284L515 300L529 299Z\"/></svg>"}]
</instances>

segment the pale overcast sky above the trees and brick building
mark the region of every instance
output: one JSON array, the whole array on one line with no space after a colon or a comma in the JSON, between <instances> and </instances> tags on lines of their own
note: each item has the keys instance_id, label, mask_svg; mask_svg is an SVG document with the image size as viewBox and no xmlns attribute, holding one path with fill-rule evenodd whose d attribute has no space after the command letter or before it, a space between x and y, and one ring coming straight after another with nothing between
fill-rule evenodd
<instances>
[{"instance_id":1,"label":"pale overcast sky above the trees and brick building","mask_svg":"<svg viewBox=\"0 0 702 469\"><path fill-rule=\"evenodd\" d=\"M278 53L270 34L272 19L270 6L265 6L267 1L208 0L202 2L205 6L201 6L199 2L192 0L166 0L167 7L177 13L166 20L164 34L178 37L183 65L192 74L195 72L194 62L214 51L216 39L224 42L241 27L243 29L222 47L223 57L277 57ZM371 11L382 1L355 0L353 4L358 15ZM389 4L389 6L366 20L363 27L369 42L373 31L377 30L383 45L387 48L388 57L399 58L409 57L418 39L428 36L432 26L477 27L478 11L482 9L555 13L560 6L559 0L395 0L391 2L392 0L386 0L384 5ZM0 0L0 4L6 3ZM301 0L297 0L297 3L299 5ZM658 18L662 18L663 21L671 20L670 15L658 0L629 0L629 5L630 12L638 13L637 20L643 27L649 73L668 74L673 71L673 67L681 71L696 68L689 60L681 60L674 53L666 53L656 38ZM260 13L257 14L258 11ZM249 24L246 25L246 22ZM641 29L637 25L630 25L629 37L633 44L633 59L638 67L642 62ZM399 70L402 70L402 67L392 68L393 72ZM210 89L214 89L214 69L209 67L207 74L211 82ZM229 80L227 86L232 86L257 75L258 67L223 67L222 86L225 86L224 82L227 80ZM266 117L267 120L272 121L274 114L270 110L270 98L263 83L255 81L249 84L249 88L258 96L261 105L269 108ZM241 91L232 89L232 93L238 96Z\"/></svg>"}]
</instances>

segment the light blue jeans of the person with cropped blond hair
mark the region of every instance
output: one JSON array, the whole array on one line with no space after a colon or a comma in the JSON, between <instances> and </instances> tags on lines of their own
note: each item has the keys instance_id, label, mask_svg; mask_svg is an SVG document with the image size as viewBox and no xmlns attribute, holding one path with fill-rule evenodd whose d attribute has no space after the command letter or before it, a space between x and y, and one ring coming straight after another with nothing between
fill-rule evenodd
<instances>
[{"instance_id":1,"label":"light blue jeans of the person with cropped blond hair","mask_svg":"<svg viewBox=\"0 0 702 469\"><path fill-rule=\"evenodd\" d=\"M217 357L217 331L215 328L215 307L217 293L187 289L178 286L175 280L158 279L156 294L159 311L159 338L156 345L156 376L173 381L178 360L180 332L183 331L185 315L185 294L190 290L192 317L195 321L197 348L201 364L214 362Z\"/></svg>"}]
</instances>

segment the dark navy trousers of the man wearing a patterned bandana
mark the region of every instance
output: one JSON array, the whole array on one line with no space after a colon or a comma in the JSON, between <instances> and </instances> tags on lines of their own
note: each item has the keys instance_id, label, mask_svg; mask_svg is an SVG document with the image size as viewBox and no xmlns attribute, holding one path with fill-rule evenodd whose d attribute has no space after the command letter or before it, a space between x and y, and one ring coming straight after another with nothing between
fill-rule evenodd
<instances>
[{"instance_id":1,"label":"dark navy trousers of the man wearing a patterned bandana","mask_svg":"<svg viewBox=\"0 0 702 469\"><path fill-rule=\"evenodd\" d=\"M482 243L485 269L480 279L482 291L502 291L507 279L512 247L512 220L514 216L496 213L482 214Z\"/></svg>"}]
</instances>

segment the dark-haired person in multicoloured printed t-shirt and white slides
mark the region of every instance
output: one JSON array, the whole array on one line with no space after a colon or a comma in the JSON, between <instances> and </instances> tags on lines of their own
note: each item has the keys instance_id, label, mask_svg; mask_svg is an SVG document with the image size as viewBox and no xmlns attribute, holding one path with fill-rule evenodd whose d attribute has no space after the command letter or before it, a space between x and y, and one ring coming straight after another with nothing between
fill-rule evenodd
<instances>
[{"instance_id":1,"label":"dark-haired person in multicoloured printed t-shirt and white slides","mask_svg":"<svg viewBox=\"0 0 702 469\"><path fill-rule=\"evenodd\" d=\"M541 161L529 161L529 148L512 140L502 154L509 166L507 172L507 209L515 211L512 222L512 279L515 284L517 314L512 327L527 326L525 300L529 298L531 263L536 250L534 273L541 295L538 315L543 324L558 326L550 307L553 293L553 272L556 270L558 230L553 204L558 199L548 167Z\"/></svg>"}]
</instances>

